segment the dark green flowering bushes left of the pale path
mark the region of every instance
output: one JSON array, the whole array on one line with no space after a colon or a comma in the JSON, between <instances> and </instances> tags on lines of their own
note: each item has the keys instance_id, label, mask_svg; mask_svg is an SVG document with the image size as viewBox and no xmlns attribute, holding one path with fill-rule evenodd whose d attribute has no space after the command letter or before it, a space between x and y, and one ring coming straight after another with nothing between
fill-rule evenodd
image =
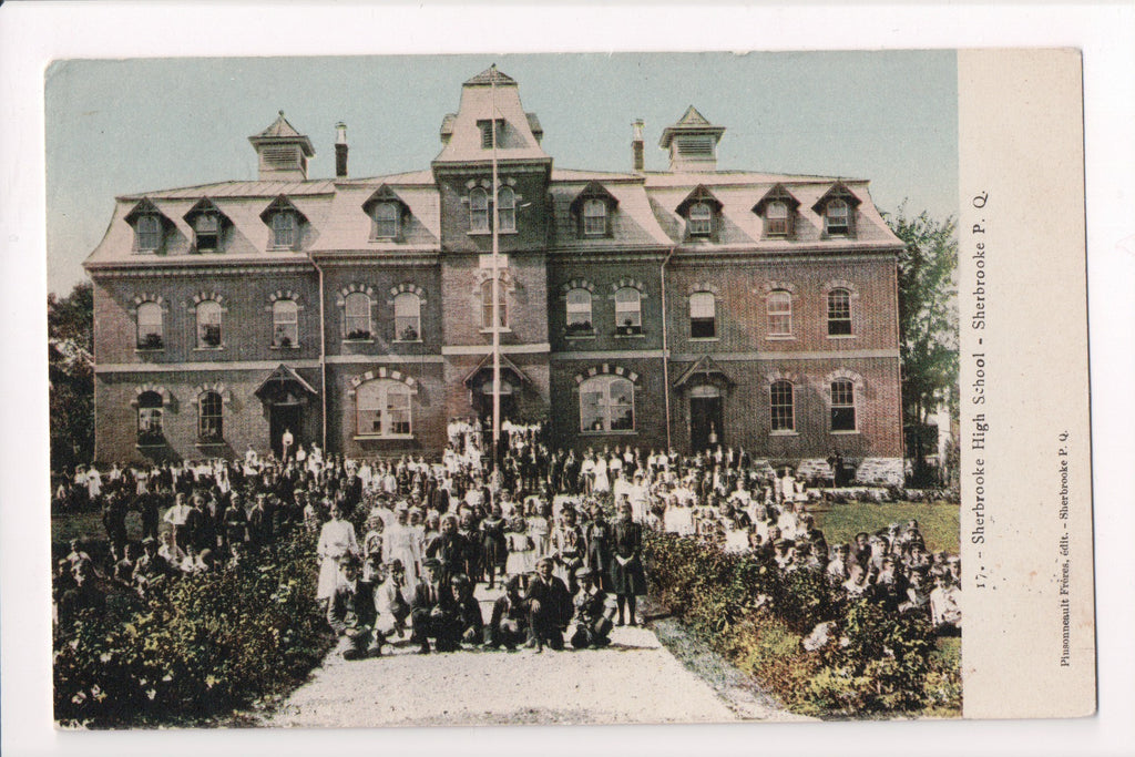
<instances>
[{"instance_id":1,"label":"dark green flowering bushes left of the pale path","mask_svg":"<svg viewBox=\"0 0 1135 757\"><path fill-rule=\"evenodd\" d=\"M54 713L65 724L190 724L302 680L331 637L316 602L316 550L275 555L111 602L54 629ZM129 597L131 595L125 595Z\"/></svg>"}]
</instances>

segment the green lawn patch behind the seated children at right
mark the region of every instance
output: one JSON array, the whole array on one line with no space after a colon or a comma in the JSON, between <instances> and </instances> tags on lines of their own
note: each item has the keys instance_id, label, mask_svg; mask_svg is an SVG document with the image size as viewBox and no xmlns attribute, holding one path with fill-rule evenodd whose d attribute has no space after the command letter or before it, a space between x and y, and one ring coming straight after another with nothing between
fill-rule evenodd
<instances>
[{"instance_id":1,"label":"green lawn patch behind the seated children at right","mask_svg":"<svg viewBox=\"0 0 1135 757\"><path fill-rule=\"evenodd\" d=\"M836 545L855 539L859 531L874 533L891 523L905 525L910 519L918 521L918 530L931 552L958 553L961 510L957 504L913 503L848 503L808 508L816 516L816 527L824 532L827 544Z\"/></svg>"}]
</instances>

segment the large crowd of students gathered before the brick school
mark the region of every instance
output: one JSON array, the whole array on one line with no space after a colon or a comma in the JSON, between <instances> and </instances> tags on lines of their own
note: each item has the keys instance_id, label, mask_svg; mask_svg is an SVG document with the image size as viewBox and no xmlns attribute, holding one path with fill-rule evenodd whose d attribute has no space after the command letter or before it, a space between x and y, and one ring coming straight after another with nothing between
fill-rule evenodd
<instances>
[{"instance_id":1,"label":"large crowd of students gathered before the brick school","mask_svg":"<svg viewBox=\"0 0 1135 757\"><path fill-rule=\"evenodd\" d=\"M303 460L250 452L77 471L57 505L101 507L110 553L100 570L73 547L59 563L58 606L96 604L100 586L144 595L155 580L225 570L306 528L319 532L317 596L351 656L407 634L421 651L431 641L437 650L558 649L572 625L571 645L594 647L614 625L639 622L644 529L654 529L753 552L784 572L823 573L848 595L960 632L960 563L930 553L914 521L830 548L808 512L816 490L743 451L628 445L577 455L550 449L541 424L502 430L495 468L488 431L455 420L434 462L325 459L312 448ZM126 538L131 511L141 514L141 544ZM487 623L479 583L504 587Z\"/></svg>"}]
</instances>

